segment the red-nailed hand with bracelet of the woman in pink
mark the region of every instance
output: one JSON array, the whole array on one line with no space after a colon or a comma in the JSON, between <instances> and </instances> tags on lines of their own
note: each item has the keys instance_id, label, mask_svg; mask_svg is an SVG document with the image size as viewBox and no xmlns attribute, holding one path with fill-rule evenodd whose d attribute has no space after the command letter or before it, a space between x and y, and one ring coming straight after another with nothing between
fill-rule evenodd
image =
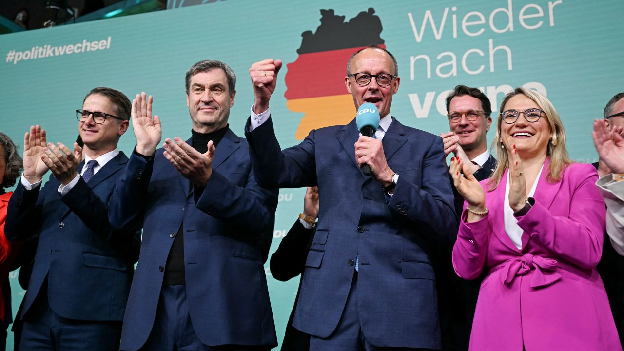
<instances>
[{"instance_id":1,"label":"red-nailed hand with bracelet of the woman in pink","mask_svg":"<svg viewBox=\"0 0 624 351\"><path fill-rule=\"evenodd\" d=\"M457 192L464 197L470 208L476 211L484 211L486 209L485 191L479 184L479 180L472 175L472 171L466 162L459 157L453 157L449 172L453 177L453 185L455 185ZM480 218L480 215L468 212L468 222L476 222Z\"/></svg>"}]
</instances>

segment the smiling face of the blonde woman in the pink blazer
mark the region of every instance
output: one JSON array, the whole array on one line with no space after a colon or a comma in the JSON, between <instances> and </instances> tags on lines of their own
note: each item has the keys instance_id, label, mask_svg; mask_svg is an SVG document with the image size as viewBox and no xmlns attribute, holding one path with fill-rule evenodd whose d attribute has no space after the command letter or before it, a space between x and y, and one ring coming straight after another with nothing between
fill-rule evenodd
<instances>
[{"instance_id":1,"label":"smiling face of the blonde woman in the pink blazer","mask_svg":"<svg viewBox=\"0 0 624 351\"><path fill-rule=\"evenodd\" d=\"M525 111L527 109L542 109L537 103L524 94L517 94L509 99L501 111L515 110ZM515 123L507 124L501 122L500 139L508 151L512 150L512 145L518 150L522 159L533 159L547 154L548 142L552 132L548 126L548 120L542 112L537 122L527 122L524 114L520 114Z\"/></svg>"}]
</instances>

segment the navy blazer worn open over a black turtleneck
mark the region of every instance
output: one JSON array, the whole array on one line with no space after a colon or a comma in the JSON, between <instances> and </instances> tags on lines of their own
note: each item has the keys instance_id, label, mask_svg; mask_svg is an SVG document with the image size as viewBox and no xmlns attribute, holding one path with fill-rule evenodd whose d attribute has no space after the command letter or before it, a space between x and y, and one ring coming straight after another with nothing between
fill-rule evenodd
<instances>
[{"instance_id":1,"label":"navy blazer worn open over a black turtleneck","mask_svg":"<svg viewBox=\"0 0 624 351\"><path fill-rule=\"evenodd\" d=\"M190 140L187 141L191 143ZM124 317L121 348L137 350L154 325L173 238L184 229L187 303L206 345L277 344L263 262L273 234L278 189L260 187L245 139L228 130L204 189L191 187L158 149L130 156L113 195L115 228L143 228Z\"/></svg>"}]
</instances>

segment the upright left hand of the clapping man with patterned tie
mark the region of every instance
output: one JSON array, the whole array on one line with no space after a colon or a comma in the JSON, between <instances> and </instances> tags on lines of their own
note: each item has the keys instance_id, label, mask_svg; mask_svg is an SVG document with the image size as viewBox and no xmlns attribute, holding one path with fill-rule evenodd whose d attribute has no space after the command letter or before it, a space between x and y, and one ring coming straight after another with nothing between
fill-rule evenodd
<instances>
[{"instance_id":1,"label":"upright left hand of the clapping man with patterned tie","mask_svg":"<svg viewBox=\"0 0 624 351\"><path fill-rule=\"evenodd\" d=\"M24 134L24 177L29 183L34 184L43 179L49 169L41 159L46 149L46 130L41 126L31 126L29 132Z\"/></svg>"}]
</instances>

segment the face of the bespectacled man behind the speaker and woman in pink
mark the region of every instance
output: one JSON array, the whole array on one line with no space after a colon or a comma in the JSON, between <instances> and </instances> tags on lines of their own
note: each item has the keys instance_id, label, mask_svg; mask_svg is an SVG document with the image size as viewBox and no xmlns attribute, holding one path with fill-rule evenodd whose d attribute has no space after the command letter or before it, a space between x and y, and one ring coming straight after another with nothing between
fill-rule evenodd
<instances>
[{"instance_id":1,"label":"face of the bespectacled man behind the speaker and woman in pink","mask_svg":"<svg viewBox=\"0 0 624 351\"><path fill-rule=\"evenodd\" d=\"M453 97L449 104L449 115L467 111L483 111L481 101L470 95ZM475 121L468 121L466 116L462 116L459 122L454 123L449 120L451 131L459 136L459 145L464 151L475 151L482 153L487 149L487 131L490 130L492 117L480 114Z\"/></svg>"}]
</instances>

